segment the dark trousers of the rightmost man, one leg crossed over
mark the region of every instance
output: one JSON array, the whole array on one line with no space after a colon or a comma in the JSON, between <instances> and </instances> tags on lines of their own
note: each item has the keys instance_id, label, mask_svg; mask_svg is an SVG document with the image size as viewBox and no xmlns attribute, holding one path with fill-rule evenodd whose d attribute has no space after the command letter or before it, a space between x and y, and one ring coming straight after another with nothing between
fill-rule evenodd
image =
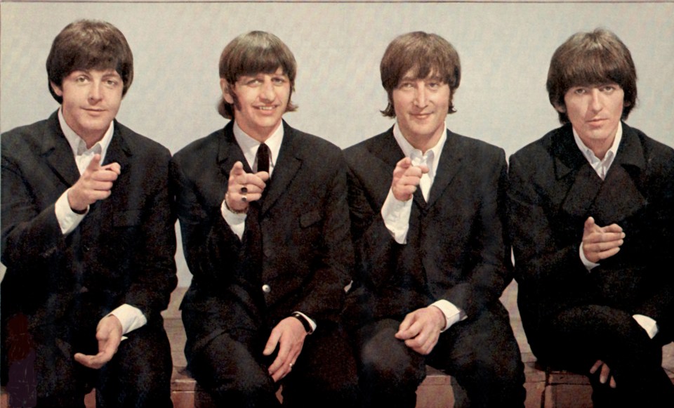
<instances>
[{"instance_id":1,"label":"dark trousers of the rightmost man, one leg crossed over","mask_svg":"<svg viewBox=\"0 0 674 408\"><path fill-rule=\"evenodd\" d=\"M595 407L670 407L674 401L674 386L661 367L664 341L649 338L623 310L569 308L543 327L539 343L540 360L589 377ZM599 372L590 375L597 360L611 369L615 389L600 383Z\"/></svg>"}]
</instances>

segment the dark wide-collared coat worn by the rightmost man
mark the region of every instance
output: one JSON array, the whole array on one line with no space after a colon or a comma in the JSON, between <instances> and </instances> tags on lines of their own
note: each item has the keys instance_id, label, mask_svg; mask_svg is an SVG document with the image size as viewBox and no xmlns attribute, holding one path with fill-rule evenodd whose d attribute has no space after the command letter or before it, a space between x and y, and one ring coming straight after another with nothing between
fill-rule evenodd
<instances>
[{"instance_id":1,"label":"dark wide-collared coat worn by the rightmost man","mask_svg":"<svg viewBox=\"0 0 674 408\"><path fill-rule=\"evenodd\" d=\"M674 151L623 123L605 180L574 142L571 125L510 157L510 231L522 323L536 348L540 325L574 305L608 305L672 322ZM588 273L579 257L583 223L617 223L618 254ZM535 352L535 350L534 350Z\"/></svg>"}]
</instances>

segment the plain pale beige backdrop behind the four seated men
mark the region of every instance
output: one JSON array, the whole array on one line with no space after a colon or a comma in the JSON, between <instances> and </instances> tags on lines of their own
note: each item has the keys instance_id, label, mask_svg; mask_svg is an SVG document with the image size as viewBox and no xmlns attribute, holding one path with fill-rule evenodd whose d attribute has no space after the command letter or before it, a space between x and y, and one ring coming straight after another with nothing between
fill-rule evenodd
<instances>
[{"instance_id":1,"label":"plain pale beige backdrop behind the four seated men","mask_svg":"<svg viewBox=\"0 0 674 408\"><path fill-rule=\"evenodd\" d=\"M564 2L2 2L0 131L45 119L58 105L44 67L69 22L121 29L135 79L118 119L176 152L225 124L216 112L218 57L238 34L277 34L296 56L292 126L348 147L392 125L378 65L398 34L449 40L463 77L450 129L506 154L559 126L545 88L550 56L571 34L606 27L632 52L638 104L628 123L674 146L674 3ZM190 273L176 254L180 286Z\"/></svg>"}]
</instances>

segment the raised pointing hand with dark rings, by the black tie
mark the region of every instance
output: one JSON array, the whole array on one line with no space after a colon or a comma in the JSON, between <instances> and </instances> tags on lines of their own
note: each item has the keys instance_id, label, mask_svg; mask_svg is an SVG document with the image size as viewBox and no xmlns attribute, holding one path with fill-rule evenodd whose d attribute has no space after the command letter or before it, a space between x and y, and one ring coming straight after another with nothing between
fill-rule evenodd
<instances>
[{"instance_id":1,"label":"raised pointing hand with dark rings, by the black tie","mask_svg":"<svg viewBox=\"0 0 674 408\"><path fill-rule=\"evenodd\" d=\"M227 180L227 193L225 194L227 208L235 213L248 211L249 203L262 197L262 192L267 187L265 183L267 180L269 180L269 173L266 171L246 173L242 162L234 163L230 178Z\"/></svg>"}]
</instances>

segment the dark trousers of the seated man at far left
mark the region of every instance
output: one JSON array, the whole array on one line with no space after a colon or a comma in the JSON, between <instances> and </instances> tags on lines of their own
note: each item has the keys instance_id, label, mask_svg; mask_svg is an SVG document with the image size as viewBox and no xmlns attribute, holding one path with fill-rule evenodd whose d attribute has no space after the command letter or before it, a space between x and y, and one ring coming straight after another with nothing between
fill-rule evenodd
<instances>
[{"instance_id":1,"label":"dark trousers of the seated man at far left","mask_svg":"<svg viewBox=\"0 0 674 408\"><path fill-rule=\"evenodd\" d=\"M94 387L98 408L172 407L171 346L161 322L126 336L112 360L95 370L73 357L98 353L95 328L73 332L46 325L32 330L37 407L84 407L84 395Z\"/></svg>"}]
</instances>

